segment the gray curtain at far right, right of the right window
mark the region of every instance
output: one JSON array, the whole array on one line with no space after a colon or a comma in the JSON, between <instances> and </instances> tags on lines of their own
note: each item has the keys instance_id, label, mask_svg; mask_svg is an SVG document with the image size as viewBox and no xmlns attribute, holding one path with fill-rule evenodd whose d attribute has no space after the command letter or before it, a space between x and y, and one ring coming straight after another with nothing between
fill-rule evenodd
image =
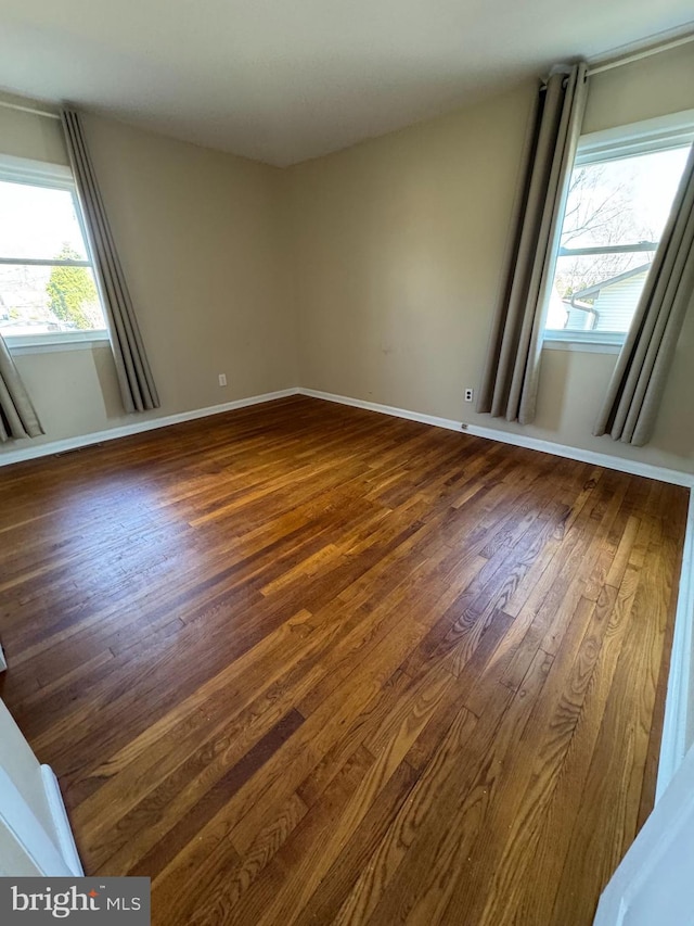
<instances>
[{"instance_id":1,"label":"gray curtain at far right, right of the right window","mask_svg":"<svg viewBox=\"0 0 694 926\"><path fill-rule=\"evenodd\" d=\"M609 433L637 447L651 440L693 290L694 145L595 422L596 436Z\"/></svg>"}]
</instances>

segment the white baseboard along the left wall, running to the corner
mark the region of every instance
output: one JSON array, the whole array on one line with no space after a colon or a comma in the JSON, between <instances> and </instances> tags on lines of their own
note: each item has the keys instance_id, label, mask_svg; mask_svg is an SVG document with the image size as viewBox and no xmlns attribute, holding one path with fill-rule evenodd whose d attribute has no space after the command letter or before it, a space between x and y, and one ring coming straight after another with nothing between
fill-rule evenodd
<instances>
[{"instance_id":1,"label":"white baseboard along the left wall, running to the corner","mask_svg":"<svg viewBox=\"0 0 694 926\"><path fill-rule=\"evenodd\" d=\"M27 444L24 447L11 447L0 449L0 466L31 460L38 457L48 457L53 454L62 454L66 451L75 451L79 447L88 447L91 444L101 444L104 441L115 441L118 437L127 437L130 434L141 434L144 431L154 431L157 428L167 428L169 424L180 424L182 421L193 421L196 418L207 418L209 415L220 415L222 411L233 411L236 408L246 408L250 405L261 405L275 398L285 398L296 395L296 389L282 389L278 392L266 392L262 395L252 395L248 398L237 398L234 402L224 402L222 405L209 405L206 408L195 408L192 411L180 411L177 415L165 415L160 418L146 418L133 420L131 424L121 424L110 428L107 431L94 431L91 434L80 434L77 437L66 437L62 441L51 441L47 444Z\"/></svg>"}]
</instances>

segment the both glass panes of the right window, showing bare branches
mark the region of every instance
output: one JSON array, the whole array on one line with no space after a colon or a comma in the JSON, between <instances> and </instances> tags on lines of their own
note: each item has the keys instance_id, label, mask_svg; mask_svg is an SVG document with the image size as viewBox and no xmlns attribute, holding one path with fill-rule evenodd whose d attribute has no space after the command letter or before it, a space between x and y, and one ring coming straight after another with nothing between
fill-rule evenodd
<instances>
[{"instance_id":1,"label":"both glass panes of the right window, showing bare branches","mask_svg":"<svg viewBox=\"0 0 694 926\"><path fill-rule=\"evenodd\" d=\"M689 149L577 166L562 228L563 249L657 244ZM557 258L548 330L625 333L655 250Z\"/></svg>"}]
</instances>

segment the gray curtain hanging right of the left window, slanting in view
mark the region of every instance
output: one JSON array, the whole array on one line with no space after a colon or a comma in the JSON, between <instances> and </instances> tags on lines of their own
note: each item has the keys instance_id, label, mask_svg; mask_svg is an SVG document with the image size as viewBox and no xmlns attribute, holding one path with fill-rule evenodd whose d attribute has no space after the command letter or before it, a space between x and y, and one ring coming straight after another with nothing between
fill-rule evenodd
<instances>
[{"instance_id":1,"label":"gray curtain hanging right of the left window, slanting in view","mask_svg":"<svg viewBox=\"0 0 694 926\"><path fill-rule=\"evenodd\" d=\"M77 193L87 224L97 282L106 313L123 404L126 411L158 408L159 397L106 218L94 168L87 150L79 115L74 110L63 110L61 115Z\"/></svg>"}]
</instances>

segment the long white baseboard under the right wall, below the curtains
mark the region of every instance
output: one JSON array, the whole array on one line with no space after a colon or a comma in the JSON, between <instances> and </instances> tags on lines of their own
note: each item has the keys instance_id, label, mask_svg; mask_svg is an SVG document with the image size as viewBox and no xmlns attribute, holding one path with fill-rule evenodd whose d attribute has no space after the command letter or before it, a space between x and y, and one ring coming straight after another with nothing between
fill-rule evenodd
<instances>
[{"instance_id":1,"label":"long white baseboard under the right wall, below the curtains","mask_svg":"<svg viewBox=\"0 0 694 926\"><path fill-rule=\"evenodd\" d=\"M510 431L499 431L494 428L484 428L479 424L467 424L463 428L462 421L452 418L437 418L435 415L422 415L419 411L410 411L407 408L396 408L393 405L380 405L376 402L364 402L361 398L350 398L346 395L335 395L331 392L319 392L316 389L298 389L300 395L310 395L313 398L322 398L325 402L336 402L339 405L350 405L354 408L364 408L368 411L377 411L381 415L391 415L395 418L407 418L409 421L420 421L423 424L433 424L436 428L446 428L449 431L459 431L473 434L476 437L487 437L490 441L500 441L503 444L513 444L516 447L526 447L530 451L540 451L544 454L553 454L579 462L594 464L606 469L616 469L630 475L644 475L647 479L657 479L660 482L669 482L673 485L684 485L689 489L694 486L694 473L680 472L667 467L654 466L653 464L629 460L616 457L612 454L601 454L596 451L584 451L580 447L568 447L564 444L555 444L552 441L543 441L539 437L529 437L525 434L516 434Z\"/></svg>"}]
</instances>

